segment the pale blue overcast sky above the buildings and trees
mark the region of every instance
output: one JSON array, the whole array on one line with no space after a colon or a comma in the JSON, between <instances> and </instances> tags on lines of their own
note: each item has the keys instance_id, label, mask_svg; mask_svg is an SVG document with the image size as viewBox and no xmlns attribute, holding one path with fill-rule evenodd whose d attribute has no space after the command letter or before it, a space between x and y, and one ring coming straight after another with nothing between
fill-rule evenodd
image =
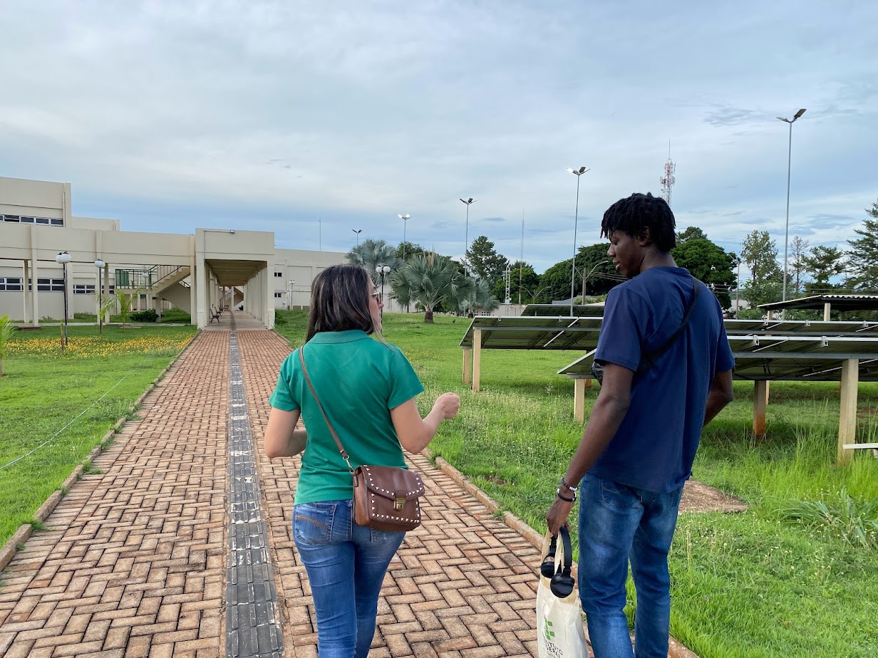
<instances>
[{"instance_id":1,"label":"pale blue overcast sky above the buildings and trees","mask_svg":"<svg viewBox=\"0 0 878 658\"><path fill-rule=\"evenodd\" d=\"M73 184L123 230L355 229L538 272L660 193L738 251L844 244L878 199L878 3L0 0L0 175ZM319 221L320 220L320 221Z\"/></svg>"}]
</instances>

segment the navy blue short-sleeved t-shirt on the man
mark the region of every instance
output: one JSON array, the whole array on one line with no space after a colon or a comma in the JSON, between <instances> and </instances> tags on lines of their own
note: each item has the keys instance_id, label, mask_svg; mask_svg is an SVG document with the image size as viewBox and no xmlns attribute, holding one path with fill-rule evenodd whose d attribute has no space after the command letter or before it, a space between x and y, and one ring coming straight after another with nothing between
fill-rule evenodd
<instances>
[{"instance_id":1,"label":"navy blue short-sleeved t-shirt on the man","mask_svg":"<svg viewBox=\"0 0 878 658\"><path fill-rule=\"evenodd\" d=\"M665 344L702 286L689 324L651 367L636 374L631 404L589 473L668 493L692 474L710 384L735 361L716 297L684 268L649 268L609 291L595 361L637 372Z\"/></svg>"}]
</instances>

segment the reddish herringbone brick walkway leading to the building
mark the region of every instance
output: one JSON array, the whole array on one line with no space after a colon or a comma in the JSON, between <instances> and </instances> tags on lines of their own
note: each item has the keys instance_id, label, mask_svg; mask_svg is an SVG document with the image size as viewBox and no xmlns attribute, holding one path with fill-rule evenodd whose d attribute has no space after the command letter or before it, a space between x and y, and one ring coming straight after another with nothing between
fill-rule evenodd
<instances>
[{"instance_id":1,"label":"reddish herringbone brick walkway leading to the building","mask_svg":"<svg viewBox=\"0 0 878 658\"><path fill-rule=\"evenodd\" d=\"M316 656L289 523L299 459L262 452L289 353L239 331L284 655ZM202 333L3 574L0 655L226 654L229 333ZM385 578L371 656L536 655L536 549L421 456L425 521Z\"/></svg>"}]
</instances>

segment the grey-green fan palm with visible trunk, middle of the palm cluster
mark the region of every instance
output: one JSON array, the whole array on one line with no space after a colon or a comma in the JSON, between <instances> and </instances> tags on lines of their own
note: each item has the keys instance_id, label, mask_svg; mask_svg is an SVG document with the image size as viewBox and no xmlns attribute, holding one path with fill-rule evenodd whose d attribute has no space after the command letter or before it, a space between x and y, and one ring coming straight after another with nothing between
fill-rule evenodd
<instances>
[{"instance_id":1,"label":"grey-green fan palm with visible trunk, middle of the palm cluster","mask_svg":"<svg viewBox=\"0 0 878 658\"><path fill-rule=\"evenodd\" d=\"M457 308L471 288L457 263L438 254L415 254L390 275L393 295L399 304L414 302L424 309L424 322L432 324L435 307L443 302Z\"/></svg>"}]
</instances>

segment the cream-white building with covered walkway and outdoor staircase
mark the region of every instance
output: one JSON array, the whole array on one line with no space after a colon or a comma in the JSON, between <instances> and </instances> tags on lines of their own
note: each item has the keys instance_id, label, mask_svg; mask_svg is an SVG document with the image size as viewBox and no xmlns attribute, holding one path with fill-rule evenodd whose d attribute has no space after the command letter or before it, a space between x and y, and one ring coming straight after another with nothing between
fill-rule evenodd
<instances>
[{"instance_id":1,"label":"cream-white building with covered walkway and outdoor staircase","mask_svg":"<svg viewBox=\"0 0 878 658\"><path fill-rule=\"evenodd\" d=\"M98 297L119 288L135 295L135 309L181 308L199 327L212 309L230 306L270 329L275 309L307 306L318 272L345 261L340 252L275 249L273 232L127 232L119 219L76 217L71 208L68 182L0 177L0 315L33 325L60 319L66 288L72 319L95 313ZM66 282L62 252L70 255Z\"/></svg>"}]
</instances>

